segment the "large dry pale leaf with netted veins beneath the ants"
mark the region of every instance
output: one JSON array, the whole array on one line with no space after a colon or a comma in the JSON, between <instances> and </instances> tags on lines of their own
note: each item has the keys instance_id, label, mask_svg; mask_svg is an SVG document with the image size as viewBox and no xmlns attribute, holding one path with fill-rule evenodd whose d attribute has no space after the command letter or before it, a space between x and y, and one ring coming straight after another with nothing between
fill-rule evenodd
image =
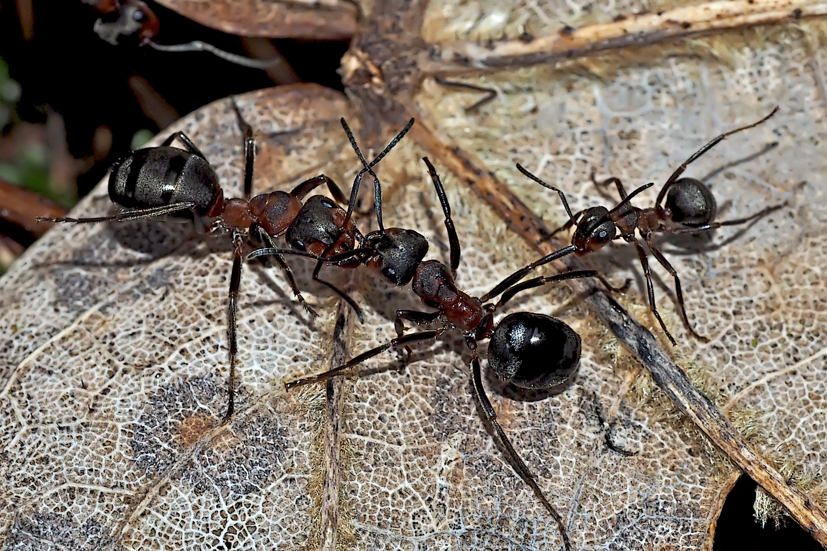
<instances>
[{"instance_id":1,"label":"large dry pale leaf with netted veins beneath the ants","mask_svg":"<svg viewBox=\"0 0 827 551\"><path fill-rule=\"evenodd\" d=\"M345 61L361 107L351 121L361 119L370 134L400 126L409 112L422 116L413 139L380 165L386 221L427 235L431 258L445 260L439 208L418 157L431 154L461 174L437 165L463 245L459 283L480 294L537 253L505 230L466 183L479 191L490 181L496 191L504 181L556 226L564 221L557 196L518 177L515 161L562 187L579 210L610 202L588 181L590 167L629 188L660 183L715 134L780 104L771 121L725 140L688 172L710 173L778 141L710 183L719 205L729 203L722 218L791 204L741 235L719 230L720 248L667 254L681 275L691 322L711 342L685 335L667 274L660 274L656 296L680 340L667 351L818 511L825 463L818 375L827 349L818 21L464 78L497 91L471 115L462 107L480 93L429 78L419 87L418 78L428 76L424 61L443 63L457 40L528 42L528 34L552 36L560 18L572 27L593 22L585 7L565 6L530 4L499 18L476 2L370 14ZM614 18L609 9L593 11L601 21ZM412 36L418 25L411 21L425 21L425 39L443 47ZM496 51L498 43L491 44ZM341 97L279 88L239 102L260 143L257 190L289 188L318 172L349 182L356 164L337 126L347 108ZM234 124L227 102L217 102L170 131L186 129L238 195L241 140ZM468 178L472 170L476 178ZM638 204L651 201L653 190ZM507 198L490 193L486 201L502 213ZM509 204L514 212L521 207ZM104 188L82 209L107 211ZM543 227L531 216L509 221L523 235ZM61 227L2 280L0 324L12 329L2 347L9 373L0 395L11 427L2 440L7 544L559 549L556 526L480 421L458 335L417 347L404 373L337 380L327 401L322 387L284 392L281 382L390 338L394 310L417 306L409 290L361 271L342 277L366 304L365 325L310 285L306 270L299 281L323 312L314 323L280 273L245 268L242 404L231 425L218 426L230 254L220 240L185 240L188 231L160 223ZM637 278L619 300L653 325L638 293L633 251L618 248L593 261L614 281ZM301 259L291 264L306 267ZM583 335L576 381L557 396L513 400L488 382L505 430L561 511L572 546L710 549L720 506L739 475L729 459L565 287L526 293L508 309L517 310L562 316ZM347 322L334 339L337 312ZM612 328L621 335L628 329ZM366 370L393 367L394 360L389 354Z\"/></svg>"}]
</instances>

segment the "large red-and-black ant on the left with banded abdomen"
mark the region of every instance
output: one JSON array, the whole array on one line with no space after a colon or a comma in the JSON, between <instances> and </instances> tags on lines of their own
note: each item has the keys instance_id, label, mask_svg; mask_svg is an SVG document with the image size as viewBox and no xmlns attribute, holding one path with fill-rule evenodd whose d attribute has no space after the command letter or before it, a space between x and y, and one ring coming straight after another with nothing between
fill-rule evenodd
<instances>
[{"instance_id":1,"label":"large red-and-black ant on the left with banded abdomen","mask_svg":"<svg viewBox=\"0 0 827 551\"><path fill-rule=\"evenodd\" d=\"M241 129L244 144L244 198L225 199L218 182L218 174L209 165L207 158L198 150L193 140L184 132L170 135L159 147L150 147L132 151L112 165L109 173L109 198L113 203L125 207L112 216L97 218L49 218L38 217L37 221L96 223L104 221L130 221L155 216L173 215L194 218L200 222L203 218L216 219L209 233L218 230L232 232L234 246L230 289L227 293L227 340L230 352L229 387L227 389L227 412L223 420L232 417L235 407L235 365L237 354L236 338L236 303L238 288L241 283L241 251L246 240L264 243L274 247L272 238L286 234L291 245L299 250L310 249L318 254L338 254L353 249L364 241L364 237L346 216L345 211L329 198L316 195L302 204L304 197L313 189L327 184L337 202L344 203L342 191L331 178L319 174L299 183L291 192L270 192L251 198L253 168L256 157L256 140L252 128L244 121L236 102L231 99ZM413 119L405 126L390 144L385 147L365 170L378 163L413 126ZM175 139L180 140L186 149L173 147ZM352 195L361 182L359 173L354 182ZM376 180L378 188L379 183ZM295 297L311 316L317 316L296 285L293 272L280 254L274 254L276 263L284 271L285 278ZM342 259L340 265L349 261ZM350 262L353 262L350 260ZM358 265L358 264L356 264ZM350 304L362 319L361 310L351 297L337 287L318 278L318 270L313 279L323 283L337 292Z\"/></svg>"}]
</instances>

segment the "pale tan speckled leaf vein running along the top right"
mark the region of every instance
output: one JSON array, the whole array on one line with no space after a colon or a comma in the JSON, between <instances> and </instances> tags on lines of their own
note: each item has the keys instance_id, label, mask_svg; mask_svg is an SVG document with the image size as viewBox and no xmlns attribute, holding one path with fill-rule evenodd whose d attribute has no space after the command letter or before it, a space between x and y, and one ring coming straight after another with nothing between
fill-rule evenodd
<instances>
[{"instance_id":1,"label":"pale tan speckled leaf vein running along the top right","mask_svg":"<svg viewBox=\"0 0 827 551\"><path fill-rule=\"evenodd\" d=\"M462 68L493 69L573 59L605 50L649 45L743 26L771 25L827 15L827 3L807 0L723 0L629 15L611 23L564 27L549 36L522 36L479 44L469 41L434 46L428 54L431 74ZM434 64L436 62L436 64ZM437 65L441 64L442 67Z\"/></svg>"}]
</instances>

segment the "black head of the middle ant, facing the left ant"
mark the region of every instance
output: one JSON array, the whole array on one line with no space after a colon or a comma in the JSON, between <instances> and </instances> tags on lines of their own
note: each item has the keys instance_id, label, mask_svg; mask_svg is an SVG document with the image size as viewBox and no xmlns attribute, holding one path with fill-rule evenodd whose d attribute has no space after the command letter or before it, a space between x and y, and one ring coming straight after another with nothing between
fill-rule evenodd
<instances>
[{"instance_id":1,"label":"black head of the middle ant, facing the left ant","mask_svg":"<svg viewBox=\"0 0 827 551\"><path fill-rule=\"evenodd\" d=\"M366 265L394 285L406 285L414 277L425 254L428 240L414 230L388 228L365 236L367 246L374 250Z\"/></svg>"}]
</instances>

